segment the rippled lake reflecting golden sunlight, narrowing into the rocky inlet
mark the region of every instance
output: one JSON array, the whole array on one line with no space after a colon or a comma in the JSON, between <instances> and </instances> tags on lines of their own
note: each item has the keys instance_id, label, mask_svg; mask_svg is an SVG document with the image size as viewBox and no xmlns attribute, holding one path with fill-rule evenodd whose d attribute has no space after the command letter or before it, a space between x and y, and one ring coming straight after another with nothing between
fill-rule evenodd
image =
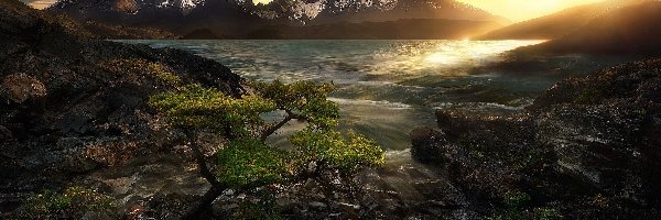
<instances>
[{"instance_id":1,"label":"rippled lake reflecting golden sunlight, narrowing into the rocky inlet","mask_svg":"<svg viewBox=\"0 0 661 220\"><path fill-rule=\"evenodd\" d=\"M334 82L340 127L376 139L387 151L386 165L360 175L381 200L423 202L440 177L414 162L409 134L435 127L437 109L483 113L523 110L559 80L585 75L630 57L563 55L528 57L535 67L500 68L508 51L542 41L121 41L192 52L228 66L248 79ZM519 56L521 56L519 54ZM512 70L507 70L512 69ZM278 118L279 116L271 116ZM282 116L280 116L282 117ZM291 124L269 142L286 146ZM176 174L174 174L176 176ZM158 177L160 178L160 177ZM160 184L148 182L145 187ZM197 189L197 185L176 186Z\"/></svg>"}]
</instances>

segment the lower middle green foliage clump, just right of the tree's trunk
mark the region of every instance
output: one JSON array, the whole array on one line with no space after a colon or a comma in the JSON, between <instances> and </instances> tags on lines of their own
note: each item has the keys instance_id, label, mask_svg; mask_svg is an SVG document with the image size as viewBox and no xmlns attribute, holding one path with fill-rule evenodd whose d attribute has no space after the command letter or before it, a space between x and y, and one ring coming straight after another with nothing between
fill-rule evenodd
<instances>
[{"instance_id":1,"label":"lower middle green foliage clump, just right of the tree's trunk","mask_svg":"<svg viewBox=\"0 0 661 220\"><path fill-rule=\"evenodd\" d=\"M230 188L253 188L282 183L290 176L289 153L254 139L239 139L217 155L223 165L216 176Z\"/></svg>"}]
</instances>

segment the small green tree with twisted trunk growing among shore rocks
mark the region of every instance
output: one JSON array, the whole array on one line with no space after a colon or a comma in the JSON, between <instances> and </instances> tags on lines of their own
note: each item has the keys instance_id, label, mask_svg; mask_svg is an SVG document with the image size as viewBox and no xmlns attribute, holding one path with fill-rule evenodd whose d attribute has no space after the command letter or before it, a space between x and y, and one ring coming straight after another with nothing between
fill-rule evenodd
<instances>
[{"instance_id":1,"label":"small green tree with twisted trunk growing among shore rocks","mask_svg":"<svg viewBox=\"0 0 661 220\"><path fill-rule=\"evenodd\" d=\"M383 152L373 140L336 130L339 108L327 100L335 89L332 84L274 81L253 82L250 87L253 91L241 98L201 85L151 97L150 105L169 119L170 125L187 135L199 173L212 185L184 219L195 219L225 189L293 184L318 178L324 170L350 179L361 168L383 163ZM285 117L274 123L266 122L263 113L274 111L282 111ZM305 129L290 136L293 150L266 143L268 136L292 120L306 123ZM203 131L229 140L214 155L216 168L209 166L195 142Z\"/></svg>"}]
</instances>

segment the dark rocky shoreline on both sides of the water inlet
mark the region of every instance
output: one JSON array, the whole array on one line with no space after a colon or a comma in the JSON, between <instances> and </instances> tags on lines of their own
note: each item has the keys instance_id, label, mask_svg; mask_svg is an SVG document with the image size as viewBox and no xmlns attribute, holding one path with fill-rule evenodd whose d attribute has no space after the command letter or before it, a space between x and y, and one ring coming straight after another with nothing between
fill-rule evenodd
<instances>
[{"instance_id":1,"label":"dark rocky shoreline on both sides of the water inlet","mask_svg":"<svg viewBox=\"0 0 661 220\"><path fill-rule=\"evenodd\" d=\"M96 219L176 219L208 187L181 133L147 106L150 95L196 82L238 96L242 79L186 52L90 40L61 20L0 0L0 217L43 189L87 186L119 210ZM420 198L379 186L328 197L305 183L275 202L288 219L659 219L661 59L570 78L525 111L436 112L412 132L412 156L437 179ZM217 142L203 144L208 152ZM407 170L402 170L407 169ZM177 175L172 175L177 174ZM241 202L225 191L207 219Z\"/></svg>"}]
</instances>

